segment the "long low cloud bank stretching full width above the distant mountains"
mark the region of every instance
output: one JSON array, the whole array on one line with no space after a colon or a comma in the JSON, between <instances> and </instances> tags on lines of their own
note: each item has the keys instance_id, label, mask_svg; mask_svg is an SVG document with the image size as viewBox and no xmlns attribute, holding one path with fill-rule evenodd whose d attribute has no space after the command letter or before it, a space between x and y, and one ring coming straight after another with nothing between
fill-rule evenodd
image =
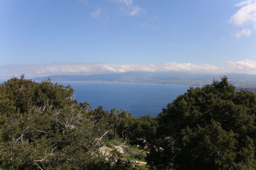
<instances>
[{"instance_id":1,"label":"long low cloud bank stretching full width above the distant mountains","mask_svg":"<svg viewBox=\"0 0 256 170\"><path fill-rule=\"evenodd\" d=\"M9 65L0 66L0 78L10 78L26 74L28 77L54 74L105 74L127 72L182 71L194 73L246 73L256 74L256 60L229 61L227 66L166 62L164 64L88 64L62 63L49 65Z\"/></svg>"}]
</instances>

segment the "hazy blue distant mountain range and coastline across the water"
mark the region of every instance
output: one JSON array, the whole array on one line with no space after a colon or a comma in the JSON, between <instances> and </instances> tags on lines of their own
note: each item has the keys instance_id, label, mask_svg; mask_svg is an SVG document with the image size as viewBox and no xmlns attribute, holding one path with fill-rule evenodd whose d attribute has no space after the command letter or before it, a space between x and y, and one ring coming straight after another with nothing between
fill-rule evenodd
<instances>
[{"instance_id":1,"label":"hazy blue distant mountain range and coastline across the water","mask_svg":"<svg viewBox=\"0 0 256 170\"><path fill-rule=\"evenodd\" d=\"M227 76L230 83L236 87L256 88L256 75L252 74L212 74L212 73L178 73L178 72L129 72L113 74L93 74L93 75L52 75L33 78L35 81L109 81L109 82L129 82L129 83L168 83L180 85L205 85L212 80L220 80L222 76Z\"/></svg>"}]
</instances>

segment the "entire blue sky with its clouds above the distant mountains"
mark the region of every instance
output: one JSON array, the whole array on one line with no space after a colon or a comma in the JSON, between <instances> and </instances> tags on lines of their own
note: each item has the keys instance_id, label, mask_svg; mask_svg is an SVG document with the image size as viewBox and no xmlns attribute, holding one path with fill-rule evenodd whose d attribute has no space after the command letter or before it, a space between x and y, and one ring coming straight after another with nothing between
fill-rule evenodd
<instances>
[{"instance_id":1,"label":"entire blue sky with its clouds above the distant mountains","mask_svg":"<svg viewBox=\"0 0 256 170\"><path fill-rule=\"evenodd\" d=\"M0 78L256 74L256 0L0 0Z\"/></svg>"}]
</instances>

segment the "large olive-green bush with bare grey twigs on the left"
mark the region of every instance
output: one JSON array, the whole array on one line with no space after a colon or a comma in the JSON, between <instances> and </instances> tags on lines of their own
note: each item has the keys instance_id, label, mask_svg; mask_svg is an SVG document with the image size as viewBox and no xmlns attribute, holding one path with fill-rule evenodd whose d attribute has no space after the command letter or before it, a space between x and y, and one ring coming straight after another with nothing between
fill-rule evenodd
<instances>
[{"instance_id":1,"label":"large olive-green bush with bare grey twigs on the left","mask_svg":"<svg viewBox=\"0 0 256 170\"><path fill-rule=\"evenodd\" d=\"M0 164L10 169L89 169L107 131L71 87L12 78L0 85ZM94 155L93 155L94 154Z\"/></svg>"}]
</instances>

